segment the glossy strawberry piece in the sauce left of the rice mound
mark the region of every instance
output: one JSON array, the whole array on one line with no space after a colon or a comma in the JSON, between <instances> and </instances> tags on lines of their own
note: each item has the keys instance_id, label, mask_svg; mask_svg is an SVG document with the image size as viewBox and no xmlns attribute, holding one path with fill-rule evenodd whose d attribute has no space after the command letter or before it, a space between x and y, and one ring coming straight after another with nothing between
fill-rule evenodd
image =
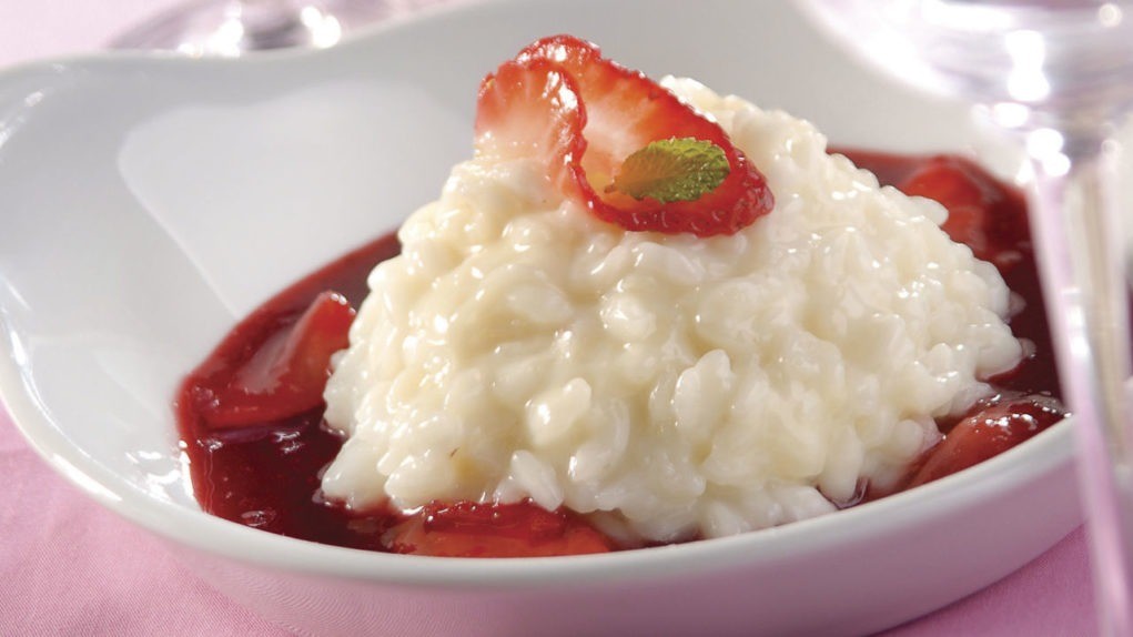
<instances>
[{"instance_id":1,"label":"glossy strawberry piece in the sauce left of the rice mound","mask_svg":"<svg viewBox=\"0 0 1133 637\"><path fill-rule=\"evenodd\" d=\"M355 312L323 292L293 325L264 334L262 345L219 388L202 387L197 402L212 428L233 428L298 416L323 404L331 355L349 345Z\"/></svg>"}]
</instances>

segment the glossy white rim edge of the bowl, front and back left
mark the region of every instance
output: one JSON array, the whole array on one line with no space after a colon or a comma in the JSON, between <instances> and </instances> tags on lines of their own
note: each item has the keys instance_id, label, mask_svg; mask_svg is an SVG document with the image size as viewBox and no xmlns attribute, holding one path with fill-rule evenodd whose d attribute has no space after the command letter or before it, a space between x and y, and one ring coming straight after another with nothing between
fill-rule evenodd
<instances>
[{"instance_id":1,"label":"glossy white rim edge of the bowl, front and back left","mask_svg":"<svg viewBox=\"0 0 1133 637\"><path fill-rule=\"evenodd\" d=\"M486 0L457 6L428 7L406 18L375 25L366 34L330 50L276 51L253 58L189 60L176 53L113 52L35 61L0 70L0 88L25 76L43 75L56 82L76 70L142 70L148 67L193 63L265 65L306 59L327 51L435 19L483 10L485 6L519 0ZM0 104L2 105L2 104ZM2 112L2 111L0 111ZM0 280L3 277L0 274ZM0 307L0 402L27 443L73 485L122 518L155 535L206 554L291 572L332 576L351 580L458 588L519 589L565 587L595 581L645 580L750 568L812 553L879 530L900 534L915 525L943 519L971 506L972 499L991 500L1039 476L1059 470L1073 460L1071 422L1066 418L1034 439L1000 456L939 481L877 501L789 525L731 537L690 542L645 550L559 558L431 558L346 549L284 537L167 502L142 491L96 462L56 427L32 379L25 374L25 354L18 334ZM172 411L170 411L172 423ZM773 550L772 550L773 549Z\"/></svg>"}]
</instances>

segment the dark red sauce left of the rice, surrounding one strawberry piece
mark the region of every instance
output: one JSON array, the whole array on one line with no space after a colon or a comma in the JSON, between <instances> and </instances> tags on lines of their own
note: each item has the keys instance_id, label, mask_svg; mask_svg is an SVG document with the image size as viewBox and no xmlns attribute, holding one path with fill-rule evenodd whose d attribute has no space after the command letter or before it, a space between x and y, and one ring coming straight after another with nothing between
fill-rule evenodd
<instances>
[{"instance_id":1,"label":"dark red sauce left of the rice, surrounding one strawberry piece","mask_svg":"<svg viewBox=\"0 0 1133 637\"><path fill-rule=\"evenodd\" d=\"M272 336L289 330L324 290L355 307L366 297L366 274L400 252L397 237L382 237L287 288L240 322L186 379L176 402L182 447L201 507L215 516L280 535L325 544L382 550L391 516L355 516L320 496L322 469L342 447L322 426L323 408L258 425L210 426L202 394L235 376ZM325 382L325 381L324 381Z\"/></svg>"}]
</instances>

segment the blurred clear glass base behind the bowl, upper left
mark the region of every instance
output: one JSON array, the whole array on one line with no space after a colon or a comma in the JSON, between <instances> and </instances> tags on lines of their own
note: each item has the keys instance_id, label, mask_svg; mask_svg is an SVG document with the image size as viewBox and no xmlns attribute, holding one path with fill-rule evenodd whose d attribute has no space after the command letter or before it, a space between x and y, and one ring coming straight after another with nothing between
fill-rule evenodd
<instances>
[{"instance_id":1,"label":"blurred clear glass base behind the bowl, upper left","mask_svg":"<svg viewBox=\"0 0 1133 637\"><path fill-rule=\"evenodd\" d=\"M290 46L326 48L412 5L398 0L206 0L174 8L114 39L113 49L241 56Z\"/></svg>"}]
</instances>

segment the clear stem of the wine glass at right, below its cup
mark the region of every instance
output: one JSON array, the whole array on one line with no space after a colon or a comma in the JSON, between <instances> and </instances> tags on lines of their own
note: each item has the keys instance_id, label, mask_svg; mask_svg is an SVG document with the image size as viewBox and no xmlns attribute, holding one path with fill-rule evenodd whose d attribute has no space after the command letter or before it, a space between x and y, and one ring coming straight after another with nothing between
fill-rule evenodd
<instances>
[{"instance_id":1,"label":"clear stem of the wine glass at right, below its cup","mask_svg":"<svg viewBox=\"0 0 1133 637\"><path fill-rule=\"evenodd\" d=\"M1114 196L1115 144L1065 136L1029 139L1031 219L1059 380L1074 414L1101 635L1133 635L1130 605L1131 348L1125 232ZM1065 135L1065 133L1064 133ZM1042 150L1046 147L1046 150Z\"/></svg>"}]
</instances>

